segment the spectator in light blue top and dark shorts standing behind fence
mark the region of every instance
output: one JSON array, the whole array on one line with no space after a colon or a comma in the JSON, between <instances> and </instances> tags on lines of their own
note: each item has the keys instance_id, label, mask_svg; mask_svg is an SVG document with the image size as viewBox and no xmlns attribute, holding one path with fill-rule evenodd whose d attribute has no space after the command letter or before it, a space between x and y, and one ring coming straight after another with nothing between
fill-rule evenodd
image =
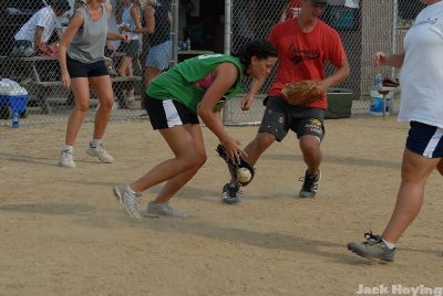
<instances>
[{"instance_id":1,"label":"spectator in light blue top and dark shorts standing behind fence","mask_svg":"<svg viewBox=\"0 0 443 296\"><path fill-rule=\"evenodd\" d=\"M133 60L138 57L141 44L138 41L137 30L142 29L142 20L140 7L134 3L135 0L122 0L122 7L119 10L117 23L121 32L130 35L128 43L122 43L119 52L125 53L119 66L120 76L133 76ZM134 87L126 89L126 105L128 108L135 108Z\"/></svg>"}]
</instances>

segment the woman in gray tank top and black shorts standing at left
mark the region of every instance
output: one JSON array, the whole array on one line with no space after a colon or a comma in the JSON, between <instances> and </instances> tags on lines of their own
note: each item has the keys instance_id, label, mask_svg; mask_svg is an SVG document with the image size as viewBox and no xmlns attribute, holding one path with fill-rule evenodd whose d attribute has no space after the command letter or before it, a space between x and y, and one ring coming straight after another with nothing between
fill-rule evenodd
<instances>
[{"instance_id":1,"label":"woman in gray tank top and black shorts standing at left","mask_svg":"<svg viewBox=\"0 0 443 296\"><path fill-rule=\"evenodd\" d=\"M87 0L80 6L60 41L62 86L71 89L75 97L75 106L68 120L65 142L59 159L61 167L75 168L74 142L90 107L90 85L95 89L100 106L95 114L93 138L86 154L103 162L114 161L102 142L114 102L104 47L106 40L127 42L128 38L107 31L109 13L105 2Z\"/></svg>"}]
</instances>

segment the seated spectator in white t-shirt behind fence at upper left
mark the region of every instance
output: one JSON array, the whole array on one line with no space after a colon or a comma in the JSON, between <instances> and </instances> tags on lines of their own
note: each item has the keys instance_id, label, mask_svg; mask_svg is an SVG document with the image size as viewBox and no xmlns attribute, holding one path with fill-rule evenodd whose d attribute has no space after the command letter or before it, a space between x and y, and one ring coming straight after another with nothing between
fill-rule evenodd
<instances>
[{"instance_id":1,"label":"seated spectator in white t-shirt behind fence at upper left","mask_svg":"<svg viewBox=\"0 0 443 296\"><path fill-rule=\"evenodd\" d=\"M48 40L56 30L58 38L62 38L62 30L58 15L71 9L68 0L54 0L52 6L40 9L14 35L14 49L11 55L30 56L34 53L48 51Z\"/></svg>"}]
</instances>

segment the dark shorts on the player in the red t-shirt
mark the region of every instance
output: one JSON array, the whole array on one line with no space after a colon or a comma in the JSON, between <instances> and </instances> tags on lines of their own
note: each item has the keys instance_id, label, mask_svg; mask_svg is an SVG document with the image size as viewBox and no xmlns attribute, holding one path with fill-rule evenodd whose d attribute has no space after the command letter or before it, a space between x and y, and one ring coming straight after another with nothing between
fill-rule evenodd
<instances>
[{"instance_id":1,"label":"dark shorts on the player in the red t-shirt","mask_svg":"<svg viewBox=\"0 0 443 296\"><path fill-rule=\"evenodd\" d=\"M278 96L265 99L266 109L258 133L269 133L281 141L289 129L300 138L305 135L315 136L321 140L324 137L324 110L321 108L303 108L288 104Z\"/></svg>"}]
</instances>

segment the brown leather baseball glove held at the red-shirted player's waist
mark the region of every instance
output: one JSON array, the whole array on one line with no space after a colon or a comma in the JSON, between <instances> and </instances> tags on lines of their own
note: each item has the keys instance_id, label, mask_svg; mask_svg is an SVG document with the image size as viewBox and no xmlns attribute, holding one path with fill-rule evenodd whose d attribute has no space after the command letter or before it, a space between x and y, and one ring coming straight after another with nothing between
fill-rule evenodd
<instances>
[{"instance_id":1,"label":"brown leather baseball glove held at the red-shirted player's waist","mask_svg":"<svg viewBox=\"0 0 443 296\"><path fill-rule=\"evenodd\" d=\"M326 95L326 89L319 81L299 81L287 83L281 93L289 104L302 105L319 101Z\"/></svg>"}]
</instances>

